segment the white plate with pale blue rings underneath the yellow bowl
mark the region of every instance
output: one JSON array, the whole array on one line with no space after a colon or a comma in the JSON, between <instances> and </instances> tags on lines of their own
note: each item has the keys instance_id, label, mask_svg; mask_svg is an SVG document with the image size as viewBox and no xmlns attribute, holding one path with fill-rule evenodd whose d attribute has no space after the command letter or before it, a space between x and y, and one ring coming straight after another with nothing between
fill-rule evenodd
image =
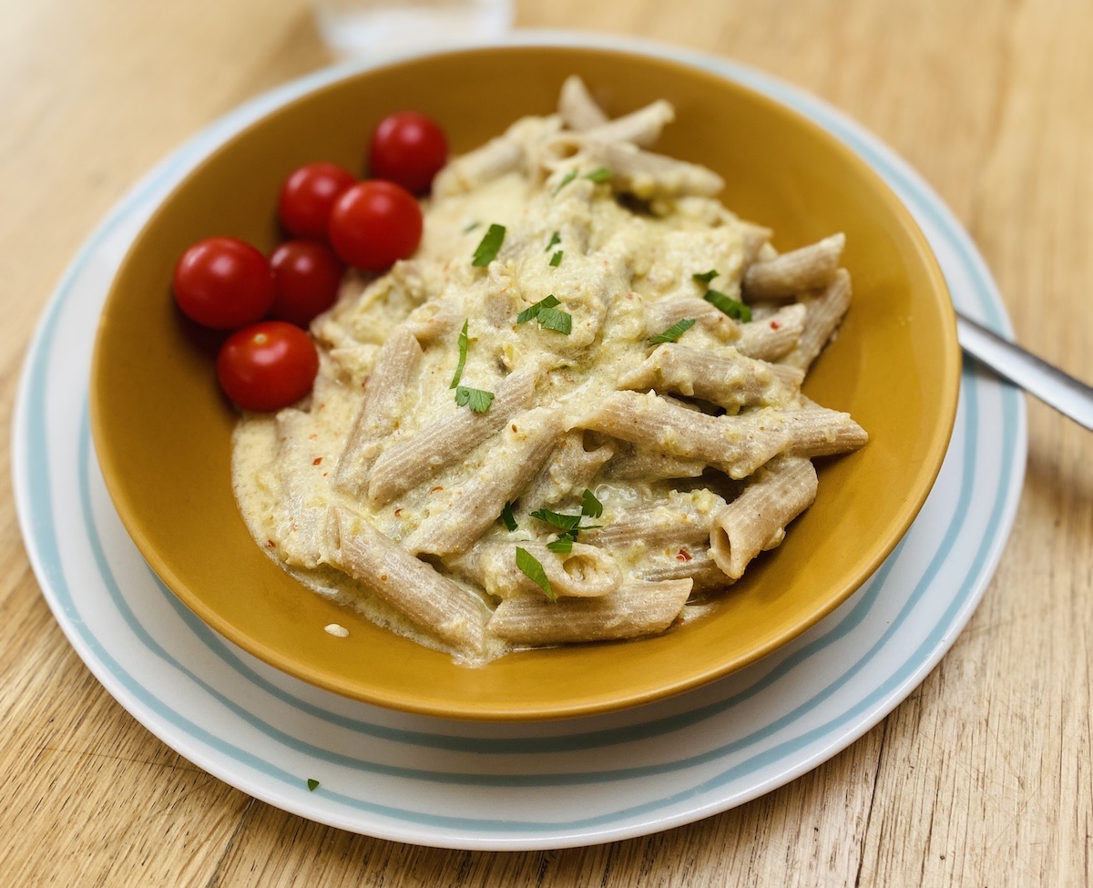
<instances>
[{"instance_id":1,"label":"white plate with pale blue rings underneath the yellow bowl","mask_svg":"<svg viewBox=\"0 0 1093 888\"><path fill-rule=\"evenodd\" d=\"M578 34L748 84L847 142L918 219L971 316L1009 323L967 235L889 149L816 98L722 59ZM272 805L355 832L463 849L642 836L762 795L831 758L900 703L953 643L994 572L1024 475L1024 401L965 366L939 482L877 574L811 631L681 697L564 722L482 724L390 712L282 675L212 632L141 559L103 487L85 381L107 288L141 224L208 152L320 71L248 103L183 145L75 257L26 361L14 422L16 503L43 593L103 686L204 770ZM319 781L309 791L307 780Z\"/></svg>"}]
</instances>

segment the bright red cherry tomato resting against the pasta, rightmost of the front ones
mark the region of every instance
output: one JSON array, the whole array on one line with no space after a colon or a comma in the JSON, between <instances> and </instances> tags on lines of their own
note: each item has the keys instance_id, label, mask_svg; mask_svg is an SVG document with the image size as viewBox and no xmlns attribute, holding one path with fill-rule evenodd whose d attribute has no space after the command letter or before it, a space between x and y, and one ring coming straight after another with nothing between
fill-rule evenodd
<instances>
[{"instance_id":1,"label":"bright red cherry tomato resting against the pasta, rightmost of the front ones","mask_svg":"<svg viewBox=\"0 0 1093 888\"><path fill-rule=\"evenodd\" d=\"M367 179L334 203L330 243L349 265L380 271L418 248L421 224L421 208L406 188Z\"/></svg>"}]
</instances>

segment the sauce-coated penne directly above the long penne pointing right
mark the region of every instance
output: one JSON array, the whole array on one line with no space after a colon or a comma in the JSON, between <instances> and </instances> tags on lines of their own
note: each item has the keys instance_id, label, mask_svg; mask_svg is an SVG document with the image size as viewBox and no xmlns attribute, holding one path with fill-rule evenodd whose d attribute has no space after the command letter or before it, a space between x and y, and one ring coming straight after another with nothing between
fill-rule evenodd
<instances>
[{"instance_id":1,"label":"sauce-coated penne directly above the long penne pointing right","mask_svg":"<svg viewBox=\"0 0 1093 888\"><path fill-rule=\"evenodd\" d=\"M666 342L631 374L619 381L622 388L674 392L719 405L730 413L741 407L766 407L795 399L804 373L789 383L763 361L739 352L714 353ZM788 383L788 384L787 384Z\"/></svg>"}]
</instances>

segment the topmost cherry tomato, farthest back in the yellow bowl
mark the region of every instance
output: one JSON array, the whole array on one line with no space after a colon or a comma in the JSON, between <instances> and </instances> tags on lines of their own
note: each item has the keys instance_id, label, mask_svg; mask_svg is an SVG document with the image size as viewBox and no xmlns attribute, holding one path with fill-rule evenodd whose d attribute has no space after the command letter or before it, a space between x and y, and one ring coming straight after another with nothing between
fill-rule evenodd
<instances>
[{"instance_id":1,"label":"topmost cherry tomato, farthest back in the yellow bowl","mask_svg":"<svg viewBox=\"0 0 1093 888\"><path fill-rule=\"evenodd\" d=\"M379 121L372 133L369 167L376 178L424 194L448 160L448 140L432 117L399 112Z\"/></svg>"}]
</instances>

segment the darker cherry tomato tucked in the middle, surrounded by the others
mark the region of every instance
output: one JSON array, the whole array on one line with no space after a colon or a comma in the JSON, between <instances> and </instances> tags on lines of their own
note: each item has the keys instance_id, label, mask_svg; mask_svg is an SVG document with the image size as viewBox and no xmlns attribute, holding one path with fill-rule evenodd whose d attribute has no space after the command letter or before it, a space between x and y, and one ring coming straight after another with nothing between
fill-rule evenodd
<instances>
[{"instance_id":1,"label":"darker cherry tomato tucked in the middle, surrounded by the others","mask_svg":"<svg viewBox=\"0 0 1093 888\"><path fill-rule=\"evenodd\" d=\"M273 306L270 315L306 327L338 299L345 266L326 244L286 241L270 256Z\"/></svg>"}]
</instances>

